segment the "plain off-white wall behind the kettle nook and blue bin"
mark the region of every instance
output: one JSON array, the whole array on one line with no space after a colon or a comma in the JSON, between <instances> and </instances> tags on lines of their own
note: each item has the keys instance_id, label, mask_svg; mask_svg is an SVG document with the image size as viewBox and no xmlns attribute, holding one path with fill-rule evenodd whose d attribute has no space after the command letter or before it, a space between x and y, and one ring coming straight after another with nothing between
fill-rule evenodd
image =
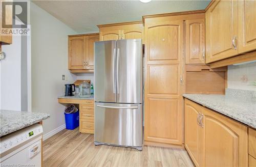
<instances>
[{"instance_id":1,"label":"plain off-white wall behind the kettle nook and blue bin","mask_svg":"<svg viewBox=\"0 0 256 167\"><path fill-rule=\"evenodd\" d=\"M44 121L44 134L65 124L63 110L57 96L63 87L73 83L76 76L68 70L68 37L76 34L70 27L31 3L31 68L32 112L48 113ZM61 80L61 75L66 80Z\"/></svg>"}]
</instances>

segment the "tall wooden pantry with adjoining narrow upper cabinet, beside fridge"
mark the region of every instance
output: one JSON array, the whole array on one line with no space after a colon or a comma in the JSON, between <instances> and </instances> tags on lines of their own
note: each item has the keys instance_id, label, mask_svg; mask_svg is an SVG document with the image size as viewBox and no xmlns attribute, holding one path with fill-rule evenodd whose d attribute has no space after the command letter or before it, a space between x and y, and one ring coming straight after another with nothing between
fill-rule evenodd
<instances>
[{"instance_id":1,"label":"tall wooden pantry with adjoining narrow upper cabinet, beside fridge","mask_svg":"<svg viewBox=\"0 0 256 167\"><path fill-rule=\"evenodd\" d=\"M204 65L204 11L144 16L145 144L182 146L186 64Z\"/></svg>"}]
</instances>

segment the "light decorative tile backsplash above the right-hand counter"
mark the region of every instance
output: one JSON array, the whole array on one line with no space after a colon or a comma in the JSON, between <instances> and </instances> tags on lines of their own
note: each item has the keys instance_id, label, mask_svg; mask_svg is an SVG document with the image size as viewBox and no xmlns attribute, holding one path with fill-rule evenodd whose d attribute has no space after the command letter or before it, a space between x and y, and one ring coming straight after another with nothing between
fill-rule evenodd
<instances>
[{"instance_id":1,"label":"light decorative tile backsplash above the right-hand counter","mask_svg":"<svg viewBox=\"0 0 256 167\"><path fill-rule=\"evenodd\" d=\"M256 62L228 66L228 88L256 91Z\"/></svg>"}]
</instances>

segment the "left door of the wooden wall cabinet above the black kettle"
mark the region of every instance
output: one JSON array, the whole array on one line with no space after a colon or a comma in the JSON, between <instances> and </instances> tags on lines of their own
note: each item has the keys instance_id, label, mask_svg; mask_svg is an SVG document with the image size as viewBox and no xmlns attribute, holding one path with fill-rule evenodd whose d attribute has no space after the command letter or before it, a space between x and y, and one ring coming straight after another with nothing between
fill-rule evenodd
<instances>
[{"instance_id":1,"label":"left door of the wooden wall cabinet above the black kettle","mask_svg":"<svg viewBox=\"0 0 256 167\"><path fill-rule=\"evenodd\" d=\"M69 69L85 69L84 62L84 37L69 37Z\"/></svg>"}]
</instances>

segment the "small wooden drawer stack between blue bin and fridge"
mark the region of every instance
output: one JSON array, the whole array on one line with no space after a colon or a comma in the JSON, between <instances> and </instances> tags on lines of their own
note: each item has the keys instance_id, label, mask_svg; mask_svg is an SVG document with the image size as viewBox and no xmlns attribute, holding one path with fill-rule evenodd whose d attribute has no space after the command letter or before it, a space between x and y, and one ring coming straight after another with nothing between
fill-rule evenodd
<instances>
[{"instance_id":1,"label":"small wooden drawer stack between blue bin and fridge","mask_svg":"<svg viewBox=\"0 0 256 167\"><path fill-rule=\"evenodd\" d=\"M94 134L94 105L90 101L79 104L79 131Z\"/></svg>"}]
</instances>

